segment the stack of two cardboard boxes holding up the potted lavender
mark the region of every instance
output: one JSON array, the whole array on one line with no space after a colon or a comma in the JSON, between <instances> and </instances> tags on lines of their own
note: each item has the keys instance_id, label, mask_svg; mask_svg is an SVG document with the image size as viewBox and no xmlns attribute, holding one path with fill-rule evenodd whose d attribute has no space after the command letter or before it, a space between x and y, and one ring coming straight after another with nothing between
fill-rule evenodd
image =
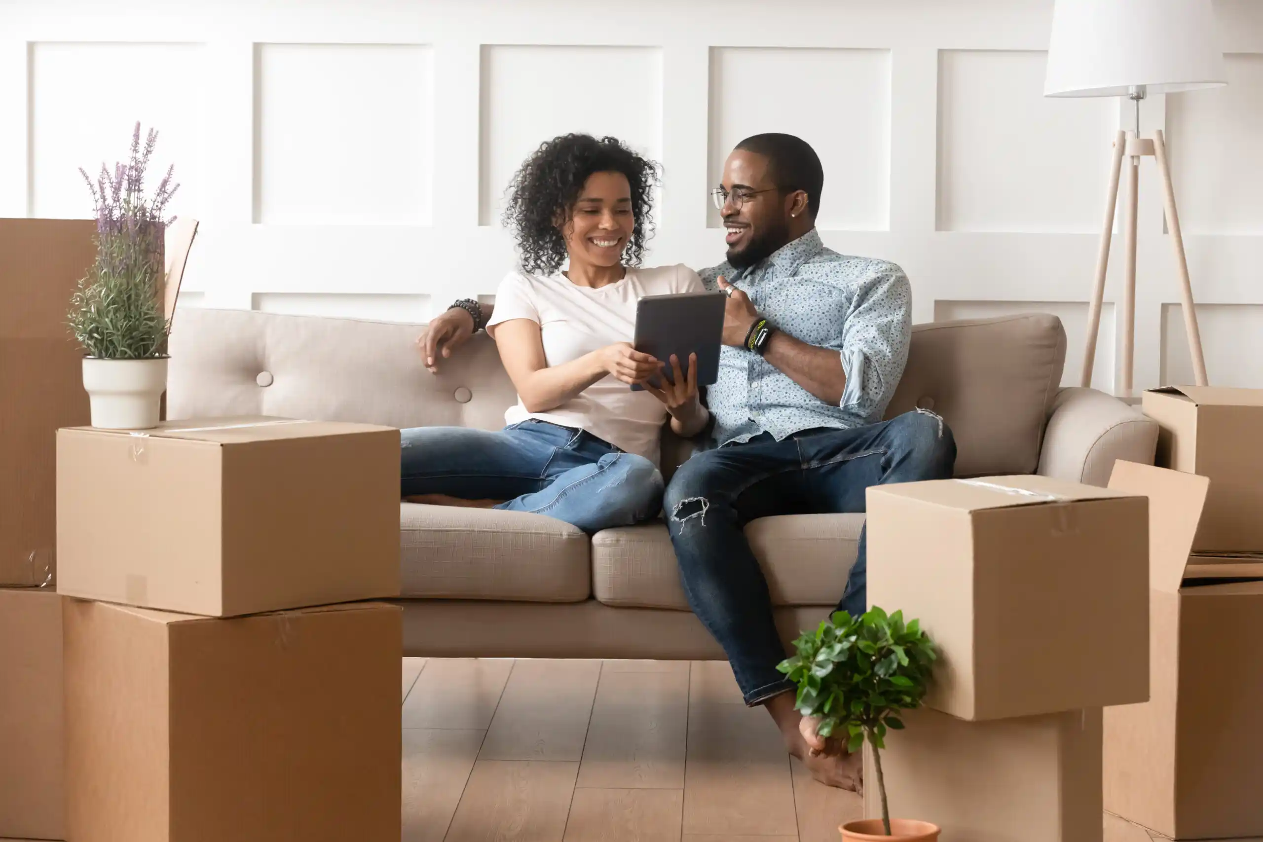
<instances>
[{"instance_id":1,"label":"stack of two cardboard boxes holding up the potted lavender","mask_svg":"<svg viewBox=\"0 0 1263 842\"><path fill-rule=\"evenodd\" d=\"M399 838L399 433L57 434L75 842Z\"/></svg>"}]
</instances>

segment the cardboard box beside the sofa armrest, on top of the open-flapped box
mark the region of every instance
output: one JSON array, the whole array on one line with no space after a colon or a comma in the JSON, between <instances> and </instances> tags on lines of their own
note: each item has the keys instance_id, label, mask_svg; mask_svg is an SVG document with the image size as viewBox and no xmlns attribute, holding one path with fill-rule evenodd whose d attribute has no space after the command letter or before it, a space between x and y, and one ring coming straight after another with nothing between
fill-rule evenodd
<instances>
[{"instance_id":1,"label":"cardboard box beside the sofa armrest, on top of the open-flapped box","mask_svg":"<svg viewBox=\"0 0 1263 842\"><path fill-rule=\"evenodd\" d=\"M1143 405L1157 465L1210 478L1192 552L1263 554L1263 389L1168 386Z\"/></svg>"}]
</instances>

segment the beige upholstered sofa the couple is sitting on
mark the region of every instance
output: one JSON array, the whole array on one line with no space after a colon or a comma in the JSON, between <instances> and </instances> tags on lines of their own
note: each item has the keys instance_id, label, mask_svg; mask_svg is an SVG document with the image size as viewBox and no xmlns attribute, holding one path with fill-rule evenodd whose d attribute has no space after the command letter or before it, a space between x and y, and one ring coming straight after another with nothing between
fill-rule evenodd
<instances>
[{"instance_id":1,"label":"beige upholstered sofa the couple is sitting on","mask_svg":"<svg viewBox=\"0 0 1263 842\"><path fill-rule=\"evenodd\" d=\"M480 335L431 375L414 346L419 329L182 311L169 415L501 427L514 391L494 343ZM1116 458L1152 462L1151 420L1100 391L1058 388L1065 350L1061 323L1046 314L917 326L888 414L941 414L956 437L959 476L1038 472L1104 485ZM690 447L664 442L668 478ZM399 514L410 655L722 658L688 611L662 523L589 539L524 513L400 504ZM787 637L841 597L863 523L792 515L746 528Z\"/></svg>"}]
</instances>

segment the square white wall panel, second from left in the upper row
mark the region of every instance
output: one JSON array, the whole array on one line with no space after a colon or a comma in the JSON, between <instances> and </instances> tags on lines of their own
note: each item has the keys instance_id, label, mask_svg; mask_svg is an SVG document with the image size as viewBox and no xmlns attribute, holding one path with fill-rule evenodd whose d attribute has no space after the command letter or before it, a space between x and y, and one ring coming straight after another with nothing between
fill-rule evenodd
<instances>
[{"instance_id":1,"label":"square white wall panel, second from left in the upper row","mask_svg":"<svg viewBox=\"0 0 1263 842\"><path fill-rule=\"evenodd\" d=\"M254 221L428 226L432 63L419 45L256 44Z\"/></svg>"}]
</instances>

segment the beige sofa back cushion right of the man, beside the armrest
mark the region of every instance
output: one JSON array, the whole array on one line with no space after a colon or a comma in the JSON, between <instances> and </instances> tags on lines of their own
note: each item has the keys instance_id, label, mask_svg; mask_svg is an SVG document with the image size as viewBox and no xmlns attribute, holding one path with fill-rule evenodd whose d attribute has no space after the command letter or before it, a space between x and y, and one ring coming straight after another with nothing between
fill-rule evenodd
<instances>
[{"instance_id":1,"label":"beige sofa back cushion right of the man, beside the armrest","mask_svg":"<svg viewBox=\"0 0 1263 842\"><path fill-rule=\"evenodd\" d=\"M942 415L956 476L1032 473L1065 361L1066 331L1047 313L916 324L887 418Z\"/></svg>"}]
</instances>

